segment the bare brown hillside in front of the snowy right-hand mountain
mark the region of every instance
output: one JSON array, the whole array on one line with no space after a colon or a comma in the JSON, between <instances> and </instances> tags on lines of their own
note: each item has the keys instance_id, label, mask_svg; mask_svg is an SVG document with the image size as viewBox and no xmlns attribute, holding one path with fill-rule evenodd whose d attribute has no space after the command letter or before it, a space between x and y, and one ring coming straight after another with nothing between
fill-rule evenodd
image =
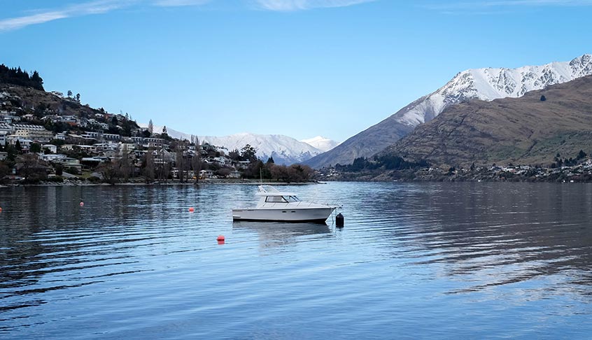
<instances>
[{"instance_id":1,"label":"bare brown hillside in front of the snowy right-hand mountain","mask_svg":"<svg viewBox=\"0 0 592 340\"><path fill-rule=\"evenodd\" d=\"M557 154L567 160L579 150L591 154L591 148L592 76L586 76L520 98L450 106L378 155L437 167L549 167Z\"/></svg>"}]
</instances>

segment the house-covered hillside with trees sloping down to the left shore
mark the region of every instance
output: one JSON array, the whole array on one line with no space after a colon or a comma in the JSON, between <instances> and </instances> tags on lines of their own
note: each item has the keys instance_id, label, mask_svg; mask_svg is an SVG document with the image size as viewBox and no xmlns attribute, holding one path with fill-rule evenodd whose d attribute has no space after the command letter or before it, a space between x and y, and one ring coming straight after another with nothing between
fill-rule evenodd
<instances>
[{"instance_id":1,"label":"house-covered hillside with trees sloping down to the left shore","mask_svg":"<svg viewBox=\"0 0 592 340\"><path fill-rule=\"evenodd\" d=\"M309 167L275 164L273 158L264 163L250 145L227 150L199 143L195 136L190 141L174 139L166 127L155 132L152 120L148 127L139 127L127 113L81 105L80 94L43 92L49 100L31 104L8 89L0 89L3 184L197 183L260 177L289 183L310 180L313 174Z\"/></svg>"}]
</instances>

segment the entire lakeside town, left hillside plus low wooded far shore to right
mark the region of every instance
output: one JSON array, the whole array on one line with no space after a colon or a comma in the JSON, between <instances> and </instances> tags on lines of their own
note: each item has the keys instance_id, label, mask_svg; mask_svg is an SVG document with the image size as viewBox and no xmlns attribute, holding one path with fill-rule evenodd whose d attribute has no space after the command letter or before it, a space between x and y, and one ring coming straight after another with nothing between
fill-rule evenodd
<instances>
[{"instance_id":1,"label":"entire lakeside town, left hillside plus low wooded far shore to right","mask_svg":"<svg viewBox=\"0 0 592 340\"><path fill-rule=\"evenodd\" d=\"M0 184L197 183L248 179L299 183L315 180L590 182L592 160L557 153L551 164L472 164L434 167L392 155L360 157L352 164L313 170L302 164L260 160L240 150L175 139L153 122L140 127L128 113L80 103L69 90L45 92L36 71L0 65Z\"/></svg>"}]
</instances>

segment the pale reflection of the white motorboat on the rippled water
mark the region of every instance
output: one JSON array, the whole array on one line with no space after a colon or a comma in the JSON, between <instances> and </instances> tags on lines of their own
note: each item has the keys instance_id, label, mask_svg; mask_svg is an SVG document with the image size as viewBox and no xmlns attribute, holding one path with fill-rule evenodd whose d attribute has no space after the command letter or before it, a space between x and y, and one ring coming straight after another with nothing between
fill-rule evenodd
<instances>
[{"instance_id":1,"label":"pale reflection of the white motorboat on the rippled water","mask_svg":"<svg viewBox=\"0 0 592 340\"><path fill-rule=\"evenodd\" d=\"M236 232L256 232L262 248L275 248L332 235L326 223L316 222L251 222L235 221ZM315 236L316 235L316 236Z\"/></svg>"}]
</instances>

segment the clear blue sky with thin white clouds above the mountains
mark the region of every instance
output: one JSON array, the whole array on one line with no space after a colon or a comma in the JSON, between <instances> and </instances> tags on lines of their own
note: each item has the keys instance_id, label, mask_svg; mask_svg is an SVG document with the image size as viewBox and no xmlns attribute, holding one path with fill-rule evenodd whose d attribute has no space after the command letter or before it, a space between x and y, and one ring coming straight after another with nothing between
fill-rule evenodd
<instances>
[{"instance_id":1,"label":"clear blue sky with thin white clouds above the mountains","mask_svg":"<svg viewBox=\"0 0 592 340\"><path fill-rule=\"evenodd\" d=\"M459 71L592 52L592 0L0 0L0 63L199 135L344 141Z\"/></svg>"}]
</instances>

